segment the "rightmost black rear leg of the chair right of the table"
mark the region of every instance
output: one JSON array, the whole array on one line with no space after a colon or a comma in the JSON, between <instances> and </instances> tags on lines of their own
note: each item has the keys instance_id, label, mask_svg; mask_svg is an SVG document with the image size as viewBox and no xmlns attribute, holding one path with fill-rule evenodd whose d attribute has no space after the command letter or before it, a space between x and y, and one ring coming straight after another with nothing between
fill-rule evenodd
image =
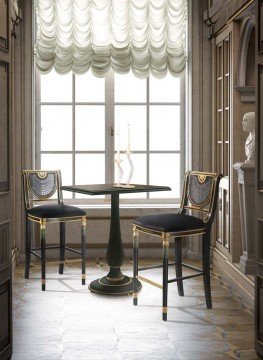
<instances>
[{"instance_id":1,"label":"rightmost black rear leg of the chair right of the table","mask_svg":"<svg viewBox=\"0 0 263 360\"><path fill-rule=\"evenodd\" d=\"M203 235L202 239L202 262L203 262L203 280L205 289L205 300L208 309L212 308L211 285L210 285L210 233Z\"/></svg>"}]
</instances>

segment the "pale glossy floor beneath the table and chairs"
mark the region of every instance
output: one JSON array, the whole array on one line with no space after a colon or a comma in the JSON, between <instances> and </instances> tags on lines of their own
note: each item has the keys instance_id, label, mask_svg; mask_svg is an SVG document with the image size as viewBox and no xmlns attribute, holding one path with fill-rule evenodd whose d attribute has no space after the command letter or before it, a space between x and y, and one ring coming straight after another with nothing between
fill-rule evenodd
<instances>
[{"instance_id":1,"label":"pale glossy floor beneath the table and chairs","mask_svg":"<svg viewBox=\"0 0 263 360\"><path fill-rule=\"evenodd\" d=\"M132 263L127 261L124 270L131 274ZM216 274L213 309L205 307L201 277L185 281L184 297L170 284L163 322L161 290L146 283L135 307L131 296L91 293L81 285L76 264L66 266L64 275L49 265L46 292L40 290L39 266L31 268L28 280L23 271L18 266L14 279L13 360L257 359L253 313ZM89 262L87 282L106 272L103 262ZM160 280L160 269L150 272Z\"/></svg>"}]
</instances>

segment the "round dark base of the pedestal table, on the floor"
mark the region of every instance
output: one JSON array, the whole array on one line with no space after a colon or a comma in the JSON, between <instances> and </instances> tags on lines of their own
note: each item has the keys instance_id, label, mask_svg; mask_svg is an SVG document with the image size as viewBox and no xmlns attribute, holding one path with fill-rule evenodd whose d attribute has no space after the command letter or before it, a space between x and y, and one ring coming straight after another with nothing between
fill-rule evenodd
<instances>
[{"instance_id":1,"label":"round dark base of the pedestal table, on the floor","mask_svg":"<svg viewBox=\"0 0 263 360\"><path fill-rule=\"evenodd\" d=\"M137 291L141 287L142 284L137 280ZM107 276L103 276L92 281L89 289L91 292L104 295L129 295L133 293L133 279L126 275L120 279L109 279Z\"/></svg>"}]
</instances>

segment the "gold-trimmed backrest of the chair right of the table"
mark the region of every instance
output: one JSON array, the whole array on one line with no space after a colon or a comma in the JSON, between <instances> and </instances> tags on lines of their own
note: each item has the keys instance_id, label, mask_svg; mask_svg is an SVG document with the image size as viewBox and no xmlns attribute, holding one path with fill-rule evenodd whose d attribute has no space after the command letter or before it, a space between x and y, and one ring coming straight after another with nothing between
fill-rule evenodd
<instances>
[{"instance_id":1,"label":"gold-trimmed backrest of the chair right of the table","mask_svg":"<svg viewBox=\"0 0 263 360\"><path fill-rule=\"evenodd\" d=\"M218 198L219 182L222 174L188 171L185 174L180 213L186 210L205 214L204 222L212 224Z\"/></svg>"}]
</instances>

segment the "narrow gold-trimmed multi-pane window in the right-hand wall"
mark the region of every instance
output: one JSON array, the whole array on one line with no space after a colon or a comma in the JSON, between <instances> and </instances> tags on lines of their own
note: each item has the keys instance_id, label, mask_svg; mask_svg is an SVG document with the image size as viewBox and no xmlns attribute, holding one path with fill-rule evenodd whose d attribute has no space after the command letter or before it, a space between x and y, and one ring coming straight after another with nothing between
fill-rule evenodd
<instances>
[{"instance_id":1,"label":"narrow gold-trimmed multi-pane window in the right-hand wall","mask_svg":"<svg viewBox=\"0 0 263 360\"><path fill-rule=\"evenodd\" d=\"M232 34L226 29L216 38L215 44L215 156L214 170L224 178L219 186L219 211L217 214L217 246L226 255L230 251L230 83Z\"/></svg>"}]
</instances>

